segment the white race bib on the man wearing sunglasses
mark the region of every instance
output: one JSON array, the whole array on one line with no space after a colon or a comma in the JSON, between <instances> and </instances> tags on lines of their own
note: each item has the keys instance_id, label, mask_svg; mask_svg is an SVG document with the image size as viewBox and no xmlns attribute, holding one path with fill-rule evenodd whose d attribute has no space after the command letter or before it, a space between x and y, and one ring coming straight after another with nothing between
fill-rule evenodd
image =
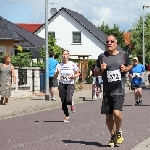
<instances>
[{"instance_id":1,"label":"white race bib on the man wearing sunglasses","mask_svg":"<svg viewBox=\"0 0 150 150\"><path fill-rule=\"evenodd\" d=\"M108 82L112 81L121 81L121 72L120 70L107 71Z\"/></svg>"}]
</instances>

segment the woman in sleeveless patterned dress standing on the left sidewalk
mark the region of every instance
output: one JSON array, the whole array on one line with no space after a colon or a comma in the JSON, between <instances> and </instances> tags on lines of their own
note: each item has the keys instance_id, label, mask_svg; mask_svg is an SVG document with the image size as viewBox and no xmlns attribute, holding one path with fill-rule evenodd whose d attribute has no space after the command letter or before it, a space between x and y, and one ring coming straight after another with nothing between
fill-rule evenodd
<instances>
[{"instance_id":1,"label":"woman in sleeveless patterned dress standing on the left sidewalk","mask_svg":"<svg viewBox=\"0 0 150 150\"><path fill-rule=\"evenodd\" d=\"M16 84L16 76L14 72L14 66L10 63L11 58L9 55L4 57L4 63L0 64L0 94L1 105L8 104L8 98L11 96L11 77L14 84Z\"/></svg>"}]
</instances>

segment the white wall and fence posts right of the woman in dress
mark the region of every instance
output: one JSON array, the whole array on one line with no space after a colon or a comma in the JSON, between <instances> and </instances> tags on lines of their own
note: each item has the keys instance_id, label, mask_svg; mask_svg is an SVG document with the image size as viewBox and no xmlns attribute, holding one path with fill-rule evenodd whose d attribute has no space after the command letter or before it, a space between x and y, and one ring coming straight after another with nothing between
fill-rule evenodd
<instances>
[{"instance_id":1,"label":"white wall and fence posts right of the woman in dress","mask_svg":"<svg viewBox=\"0 0 150 150\"><path fill-rule=\"evenodd\" d=\"M40 92L40 68L15 68L16 84L12 82L11 97L29 97Z\"/></svg>"}]
</instances>

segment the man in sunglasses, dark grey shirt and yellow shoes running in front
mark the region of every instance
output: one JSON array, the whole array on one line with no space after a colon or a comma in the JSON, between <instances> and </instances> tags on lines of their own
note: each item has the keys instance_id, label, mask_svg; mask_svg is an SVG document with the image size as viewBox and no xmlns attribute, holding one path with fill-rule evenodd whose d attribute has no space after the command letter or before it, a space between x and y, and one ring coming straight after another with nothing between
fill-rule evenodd
<instances>
[{"instance_id":1,"label":"man in sunglasses, dark grey shirt and yellow shoes running in front","mask_svg":"<svg viewBox=\"0 0 150 150\"><path fill-rule=\"evenodd\" d=\"M106 124L111 133L108 145L114 147L123 142L121 123L125 96L125 74L132 65L124 51L117 50L117 40L113 35L106 38L107 51L99 55L97 67L103 77L103 101L101 113L106 114ZM116 126L116 127L115 127Z\"/></svg>"}]
</instances>

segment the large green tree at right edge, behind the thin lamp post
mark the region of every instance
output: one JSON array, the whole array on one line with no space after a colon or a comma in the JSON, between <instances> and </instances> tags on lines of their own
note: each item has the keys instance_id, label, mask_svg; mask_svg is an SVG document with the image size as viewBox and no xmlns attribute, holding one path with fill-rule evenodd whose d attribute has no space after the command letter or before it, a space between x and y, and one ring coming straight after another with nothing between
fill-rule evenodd
<instances>
[{"instance_id":1,"label":"large green tree at right edge, behind the thin lamp post","mask_svg":"<svg viewBox=\"0 0 150 150\"><path fill-rule=\"evenodd\" d=\"M145 44L145 63L150 63L150 13L145 15L144 21L144 44ZM131 32L132 55L137 56L143 63L143 17L141 16L133 25Z\"/></svg>"}]
</instances>

